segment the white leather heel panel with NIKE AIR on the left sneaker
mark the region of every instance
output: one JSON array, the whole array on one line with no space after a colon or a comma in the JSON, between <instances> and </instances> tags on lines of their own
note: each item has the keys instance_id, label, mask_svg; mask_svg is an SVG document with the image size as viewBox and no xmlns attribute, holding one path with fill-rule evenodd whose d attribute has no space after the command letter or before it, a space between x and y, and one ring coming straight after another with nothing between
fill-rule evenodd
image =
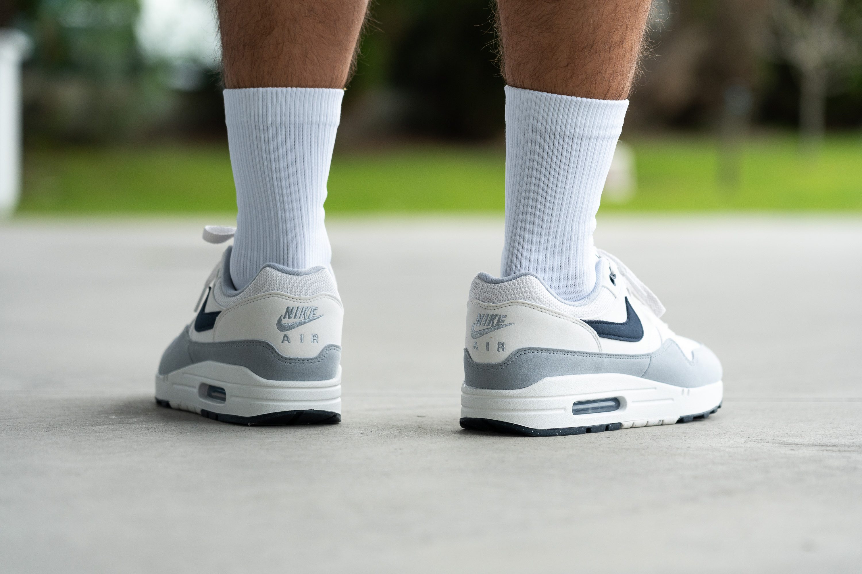
<instances>
[{"instance_id":1,"label":"white leather heel panel with NIKE AIR on the left sneaker","mask_svg":"<svg viewBox=\"0 0 862 574\"><path fill-rule=\"evenodd\" d=\"M308 358L328 344L341 344L343 317L340 302L328 293L314 297L263 293L222 312L215 321L214 341L257 339L272 343L282 355Z\"/></svg>"}]
</instances>

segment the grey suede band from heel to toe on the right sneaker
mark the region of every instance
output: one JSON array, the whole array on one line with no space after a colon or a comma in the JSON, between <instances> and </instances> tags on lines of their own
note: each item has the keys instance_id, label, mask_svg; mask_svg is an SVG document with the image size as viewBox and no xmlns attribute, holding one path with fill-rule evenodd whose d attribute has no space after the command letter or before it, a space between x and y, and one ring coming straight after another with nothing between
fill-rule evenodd
<instances>
[{"instance_id":1,"label":"grey suede band from heel to toe on the right sneaker","mask_svg":"<svg viewBox=\"0 0 862 574\"><path fill-rule=\"evenodd\" d=\"M671 340L653 353L615 355L542 349L518 349L505 361L478 363L464 349L464 380L479 389L513 391L534 385L546 377L568 374L622 373L668 385L695 387L721 380L721 363L705 347L696 349L689 361Z\"/></svg>"}]
</instances>

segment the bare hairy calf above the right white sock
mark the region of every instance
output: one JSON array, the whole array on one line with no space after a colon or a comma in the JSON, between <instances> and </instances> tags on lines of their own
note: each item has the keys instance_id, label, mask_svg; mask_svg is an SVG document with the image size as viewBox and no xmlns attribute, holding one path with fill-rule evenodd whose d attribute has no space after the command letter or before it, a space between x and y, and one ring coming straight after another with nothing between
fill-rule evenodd
<instances>
[{"instance_id":1,"label":"bare hairy calf above the right white sock","mask_svg":"<svg viewBox=\"0 0 862 574\"><path fill-rule=\"evenodd\" d=\"M510 86L624 100L651 0L498 0Z\"/></svg>"}]
</instances>

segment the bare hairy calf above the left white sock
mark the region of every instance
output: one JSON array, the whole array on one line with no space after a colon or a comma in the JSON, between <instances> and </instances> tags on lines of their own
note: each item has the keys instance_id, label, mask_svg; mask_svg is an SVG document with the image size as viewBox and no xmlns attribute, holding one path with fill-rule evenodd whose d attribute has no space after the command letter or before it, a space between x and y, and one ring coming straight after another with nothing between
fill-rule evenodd
<instances>
[{"instance_id":1,"label":"bare hairy calf above the left white sock","mask_svg":"<svg viewBox=\"0 0 862 574\"><path fill-rule=\"evenodd\" d=\"M368 0L218 0L228 88L344 88Z\"/></svg>"}]
</instances>

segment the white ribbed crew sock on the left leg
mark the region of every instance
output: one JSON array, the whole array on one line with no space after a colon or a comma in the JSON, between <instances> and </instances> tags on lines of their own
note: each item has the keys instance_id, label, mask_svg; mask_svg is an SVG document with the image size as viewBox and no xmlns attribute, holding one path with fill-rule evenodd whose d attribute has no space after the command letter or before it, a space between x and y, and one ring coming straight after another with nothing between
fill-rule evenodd
<instances>
[{"instance_id":1,"label":"white ribbed crew sock on the left leg","mask_svg":"<svg viewBox=\"0 0 862 574\"><path fill-rule=\"evenodd\" d=\"M246 287L266 263L328 266L323 201L343 89L224 90L237 215L230 276Z\"/></svg>"}]
</instances>

